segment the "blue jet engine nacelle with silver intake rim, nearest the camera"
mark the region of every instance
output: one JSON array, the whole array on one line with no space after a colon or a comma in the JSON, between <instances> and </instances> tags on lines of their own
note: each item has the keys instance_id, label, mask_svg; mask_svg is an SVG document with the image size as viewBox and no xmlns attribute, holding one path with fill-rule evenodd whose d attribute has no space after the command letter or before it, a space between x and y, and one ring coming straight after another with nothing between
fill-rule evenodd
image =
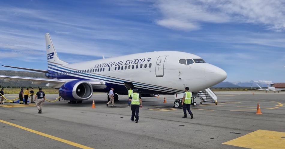
<instances>
[{"instance_id":1,"label":"blue jet engine nacelle with silver intake rim, nearest the camera","mask_svg":"<svg viewBox=\"0 0 285 149\"><path fill-rule=\"evenodd\" d=\"M92 94L92 85L80 80L66 82L59 88L59 96L66 100L87 100Z\"/></svg>"}]
</instances>

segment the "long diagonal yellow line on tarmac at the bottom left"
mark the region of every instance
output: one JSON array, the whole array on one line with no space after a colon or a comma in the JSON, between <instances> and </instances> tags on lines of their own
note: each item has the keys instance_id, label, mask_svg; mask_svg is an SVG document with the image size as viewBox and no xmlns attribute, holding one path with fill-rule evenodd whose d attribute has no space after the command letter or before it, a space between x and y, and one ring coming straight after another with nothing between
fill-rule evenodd
<instances>
[{"instance_id":1,"label":"long diagonal yellow line on tarmac at the bottom left","mask_svg":"<svg viewBox=\"0 0 285 149\"><path fill-rule=\"evenodd\" d=\"M16 124L13 124L13 123L10 123L10 122L6 122L6 121L3 121L1 119L0 119L0 122L8 124L8 125L11 125L11 126L14 126L14 127L17 127L17 128L20 128L20 129L23 129L23 130L26 130L26 131L29 131L29 132L32 132L32 133L36 133L36 134L41 135L41 136L45 136L47 138L50 138L50 139L53 139L53 140L56 140L56 141L59 141L59 142L63 142L63 143L75 146L77 148L94 149L94 148L90 148L88 146L84 146L84 145L81 145L81 144L78 144L78 143L75 143L75 142L71 142L71 141L68 141L68 140L65 140L65 139L58 138L56 136L52 136L52 135L49 135L49 134L46 134L46 133L42 133L42 132L39 132L39 131L36 131L36 130L32 130L32 129L29 129L29 128L26 128L26 127L22 127L20 125L16 125Z\"/></svg>"}]
</instances>

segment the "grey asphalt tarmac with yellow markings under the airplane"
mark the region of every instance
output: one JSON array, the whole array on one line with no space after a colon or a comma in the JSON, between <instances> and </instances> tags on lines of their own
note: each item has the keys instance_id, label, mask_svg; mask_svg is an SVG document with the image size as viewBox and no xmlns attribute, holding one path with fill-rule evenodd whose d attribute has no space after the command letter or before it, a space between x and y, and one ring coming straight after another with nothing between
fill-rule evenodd
<instances>
[{"instance_id":1,"label":"grey asphalt tarmac with yellow markings under the airplane","mask_svg":"<svg viewBox=\"0 0 285 149\"><path fill-rule=\"evenodd\" d=\"M107 107L106 93L81 104L0 106L0 148L284 148L285 92L215 92L218 105L196 99L194 118L173 108L173 95L143 98L131 122L126 95ZM17 95L5 95L14 99ZM58 95L46 95L54 100ZM96 108L91 108L95 99ZM262 115L257 115L257 103Z\"/></svg>"}]
</instances>

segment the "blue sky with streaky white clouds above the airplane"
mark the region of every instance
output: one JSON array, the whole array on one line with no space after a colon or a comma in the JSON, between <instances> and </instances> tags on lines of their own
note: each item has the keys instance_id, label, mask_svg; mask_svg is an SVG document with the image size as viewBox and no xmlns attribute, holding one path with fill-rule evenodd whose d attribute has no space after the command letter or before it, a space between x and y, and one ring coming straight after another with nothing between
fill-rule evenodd
<instances>
[{"instance_id":1,"label":"blue sky with streaky white clouds above the airplane","mask_svg":"<svg viewBox=\"0 0 285 149\"><path fill-rule=\"evenodd\" d=\"M49 32L68 63L176 50L221 67L229 82L285 82L284 7L278 0L1 0L0 64L47 69Z\"/></svg>"}]
</instances>

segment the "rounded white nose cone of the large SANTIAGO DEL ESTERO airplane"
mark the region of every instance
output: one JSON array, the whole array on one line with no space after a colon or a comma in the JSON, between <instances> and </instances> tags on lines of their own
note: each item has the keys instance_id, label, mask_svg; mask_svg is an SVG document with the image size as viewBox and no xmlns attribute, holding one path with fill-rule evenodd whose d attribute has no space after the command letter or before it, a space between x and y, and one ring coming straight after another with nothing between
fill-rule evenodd
<instances>
[{"instance_id":1,"label":"rounded white nose cone of the large SANTIAGO DEL ESTERO airplane","mask_svg":"<svg viewBox=\"0 0 285 149\"><path fill-rule=\"evenodd\" d=\"M207 82L213 86L225 80L227 74L221 68L208 64L205 67L205 77Z\"/></svg>"}]
</instances>

